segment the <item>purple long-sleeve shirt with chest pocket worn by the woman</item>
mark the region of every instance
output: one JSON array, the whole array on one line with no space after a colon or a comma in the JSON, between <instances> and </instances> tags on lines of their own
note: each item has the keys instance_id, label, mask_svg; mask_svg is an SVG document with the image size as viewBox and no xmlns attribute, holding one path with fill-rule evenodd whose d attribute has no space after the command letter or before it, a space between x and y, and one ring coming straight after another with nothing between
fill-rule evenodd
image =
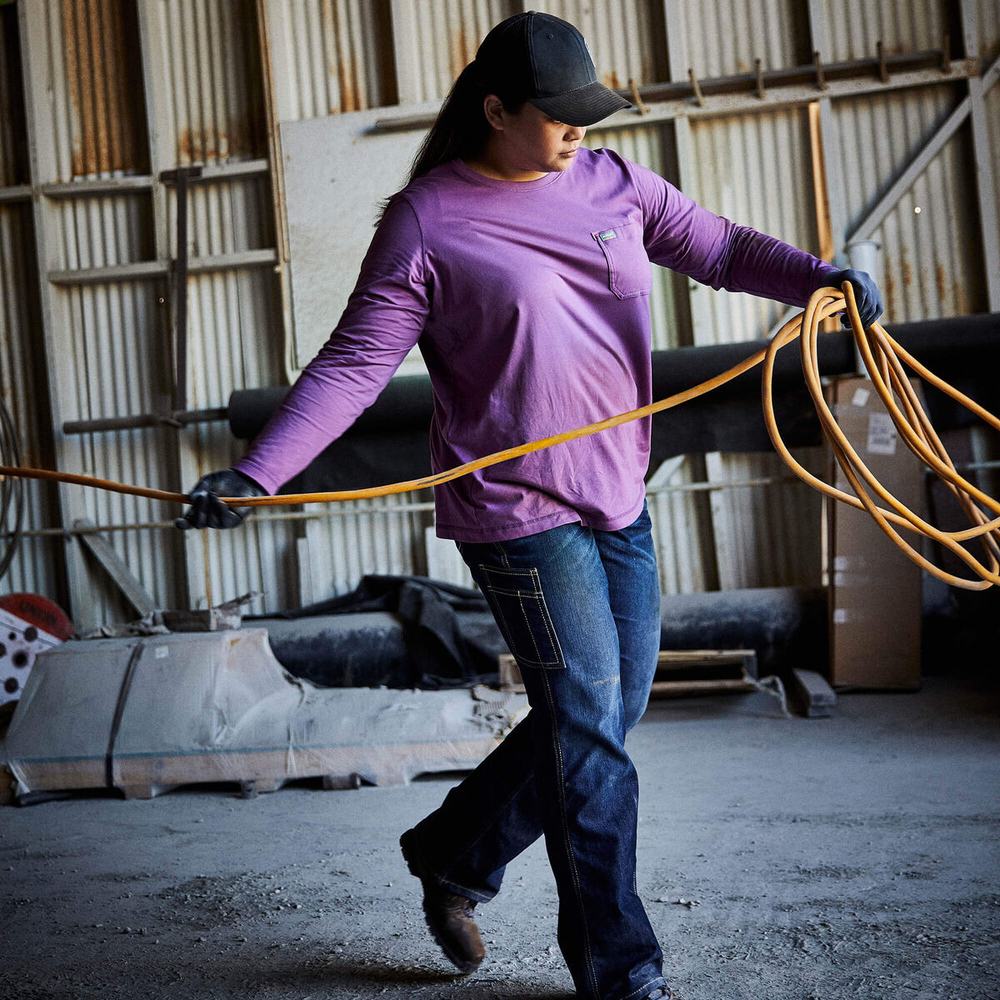
<instances>
[{"instance_id":1,"label":"purple long-sleeve shirt with chest pocket worn by the woman","mask_svg":"<svg viewBox=\"0 0 1000 1000\"><path fill-rule=\"evenodd\" d=\"M644 406L650 261L791 305L836 270L611 149L581 147L569 170L521 182L452 160L392 200L336 329L235 468L276 492L374 402L414 344L434 393L435 472ZM438 536L630 524L650 421L435 487Z\"/></svg>"}]
</instances>

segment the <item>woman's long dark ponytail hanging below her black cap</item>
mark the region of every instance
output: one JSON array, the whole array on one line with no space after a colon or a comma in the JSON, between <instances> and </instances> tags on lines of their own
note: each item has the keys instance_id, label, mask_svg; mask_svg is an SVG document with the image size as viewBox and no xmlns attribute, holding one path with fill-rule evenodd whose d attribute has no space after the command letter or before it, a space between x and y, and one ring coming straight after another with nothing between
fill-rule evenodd
<instances>
[{"instance_id":1,"label":"woman's long dark ponytail hanging below her black cap","mask_svg":"<svg viewBox=\"0 0 1000 1000\"><path fill-rule=\"evenodd\" d=\"M434 124L413 158L406 184L400 190L442 163L456 158L475 157L482 152L490 135L490 123L483 113L483 98L487 94L496 94L510 114L517 114L527 100L523 84L512 85L510 81L503 79L484 81L478 64L469 63L451 85ZM390 195L381 203L375 218L376 226L396 194Z\"/></svg>"}]
</instances>

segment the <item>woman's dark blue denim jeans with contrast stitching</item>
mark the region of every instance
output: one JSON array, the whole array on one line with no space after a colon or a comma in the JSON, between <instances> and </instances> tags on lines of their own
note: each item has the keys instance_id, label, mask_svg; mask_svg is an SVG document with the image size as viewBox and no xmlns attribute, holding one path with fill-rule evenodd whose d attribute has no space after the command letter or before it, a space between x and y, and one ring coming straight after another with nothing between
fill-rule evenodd
<instances>
[{"instance_id":1,"label":"woman's dark blue denim jeans with contrast stitching","mask_svg":"<svg viewBox=\"0 0 1000 1000\"><path fill-rule=\"evenodd\" d=\"M531 711L416 826L422 863L477 901L545 836L558 940L578 994L640 1000L665 985L636 892L638 780L625 734L646 708L660 589L646 505L618 531L560 525L458 542L524 679Z\"/></svg>"}]
</instances>

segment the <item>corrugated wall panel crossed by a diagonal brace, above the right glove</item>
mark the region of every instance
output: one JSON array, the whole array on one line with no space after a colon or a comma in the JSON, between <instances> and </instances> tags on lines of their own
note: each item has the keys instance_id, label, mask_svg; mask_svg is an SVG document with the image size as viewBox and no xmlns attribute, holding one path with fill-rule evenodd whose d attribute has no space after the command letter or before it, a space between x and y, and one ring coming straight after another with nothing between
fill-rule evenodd
<instances>
[{"instance_id":1,"label":"corrugated wall panel crossed by a diagonal brace, above the right glove","mask_svg":"<svg viewBox=\"0 0 1000 1000\"><path fill-rule=\"evenodd\" d=\"M950 87L914 88L834 104L848 230L920 151L960 99ZM960 129L873 234L882 246L882 290L895 322L985 308L968 135ZM994 175L996 176L996 175Z\"/></svg>"}]
</instances>

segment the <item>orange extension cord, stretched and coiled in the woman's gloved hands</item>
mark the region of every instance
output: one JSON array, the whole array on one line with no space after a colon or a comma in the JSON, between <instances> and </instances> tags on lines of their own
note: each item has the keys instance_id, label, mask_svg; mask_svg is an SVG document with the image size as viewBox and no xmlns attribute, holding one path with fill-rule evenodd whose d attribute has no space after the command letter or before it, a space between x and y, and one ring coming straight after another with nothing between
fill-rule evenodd
<instances>
[{"instance_id":1,"label":"orange extension cord, stretched and coiled in the woman's gloved hands","mask_svg":"<svg viewBox=\"0 0 1000 1000\"><path fill-rule=\"evenodd\" d=\"M817 341L823 320L845 310L850 319L858 351L871 377L872 386L892 417L899 436L923 464L931 468L944 480L948 489L955 495L969 521L972 523L972 527L966 528L963 531L942 531L910 510L875 478L838 426L833 413L830 411L830 407L823 398L819 375ZM778 424L774 416L774 403L772 399L774 359L782 347L796 339L800 341L802 371L805 375L809 393L816 406L820 425L830 447L833 449L837 461L840 463L840 467L844 471L844 475L854 490L854 496L830 486L821 479L817 479L804 469L792 457L784 441L781 439L781 433L778 430ZM450 482L452 479L468 475L468 473L474 472L476 469L496 465L499 462L505 462L520 455L527 455L533 451L541 451L543 448L551 448L553 445L561 444L564 441L572 441L575 438L586 437L588 434L597 434L599 431L606 430L609 427L617 427L619 424L627 423L630 420L638 420L640 417L659 413L661 410L669 410L674 406L680 406L681 403L686 403L689 399L696 399L698 396L703 396L713 389L725 385L727 382L732 381L732 379L761 363L764 365L761 392L767 431L778 454L781 455L782 459L784 459L795 475L814 489L826 494L826 496L840 500L852 507L856 507L858 510L868 511L895 545L902 549L915 563L926 569L929 573L932 573L938 579L967 590L985 590L1000 583L1000 516L997 516L1000 515L1000 502L959 475L954 462L951 460L941 439L935 433L930 420L921 407L917 394L914 392L907 378L904 365L966 409L976 414L976 416L993 427L994 430L1000 430L1000 419L997 419L997 417L974 400L969 399L968 396L954 389L947 382L944 382L933 372L925 368L916 358L893 340L881 324L873 323L869 329L865 330L854 300L854 290L849 282L843 284L842 291L837 291L835 288L821 288L814 292L805 310L789 320L778 331L767 348L758 351L745 361L734 365L728 371L722 372L720 375L716 375L714 378L708 379L700 385L693 386L683 392L675 393L673 396L668 396L666 399L658 400L655 403L650 403L648 406L629 410L627 413L619 413L617 416L599 420L597 423L587 424L585 427L577 427L562 434L554 434L551 437L541 438L538 441L518 445L516 448L507 448L504 451L494 452L492 455L484 455L473 462L466 462L464 465L456 466L454 469L447 469L435 475L424 476L422 479L389 483L385 486L375 486L364 490L339 490L332 493L284 493L278 496L222 497L221 499L224 503L235 507L277 507L285 504L333 503L340 500L360 500L369 497L388 496L392 493L408 493L426 486L440 486L442 483ZM167 490L153 490L141 486L130 486L126 483L98 479L96 476L54 472L49 469L0 466L0 476L54 479L58 482L93 486L97 489L110 490L115 493L131 493L135 496L150 497L154 500L168 500L180 504L188 502L187 494L185 493L171 493ZM880 502L886 506L881 506ZM972 571L973 578L955 576L953 573L949 573L936 566L926 559L914 545L908 542L899 533L898 528L932 539L955 553ZM977 541L978 546L982 549L982 558L976 558L965 544L972 541Z\"/></svg>"}]
</instances>

